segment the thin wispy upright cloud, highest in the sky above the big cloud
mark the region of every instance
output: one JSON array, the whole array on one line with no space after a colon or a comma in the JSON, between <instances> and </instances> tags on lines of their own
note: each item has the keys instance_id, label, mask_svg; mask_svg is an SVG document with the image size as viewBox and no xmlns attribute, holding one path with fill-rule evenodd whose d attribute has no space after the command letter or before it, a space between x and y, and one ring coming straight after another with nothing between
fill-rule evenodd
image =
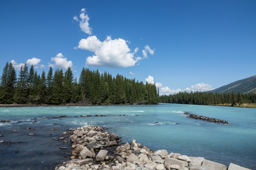
<instances>
[{"instance_id":1,"label":"thin wispy upright cloud, highest in the sky above the big cloud","mask_svg":"<svg viewBox=\"0 0 256 170\"><path fill-rule=\"evenodd\" d=\"M79 26L80 26L80 28L82 29L82 31L84 33L91 35L91 30L92 29L89 26L89 22L88 22L90 18L88 17L87 14L85 15L85 8L81 9L81 14L80 14L79 17L80 17L80 21L79 21L77 16L74 16L73 19L75 21L79 21Z\"/></svg>"}]
</instances>

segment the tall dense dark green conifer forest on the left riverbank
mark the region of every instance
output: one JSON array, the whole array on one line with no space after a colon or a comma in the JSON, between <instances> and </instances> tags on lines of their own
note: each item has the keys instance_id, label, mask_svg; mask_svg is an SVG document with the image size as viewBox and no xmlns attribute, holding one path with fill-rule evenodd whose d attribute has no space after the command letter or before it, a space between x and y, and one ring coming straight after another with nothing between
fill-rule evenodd
<instances>
[{"instance_id":1,"label":"tall dense dark green conifer forest on the left riverbank","mask_svg":"<svg viewBox=\"0 0 256 170\"><path fill-rule=\"evenodd\" d=\"M22 65L18 77L12 63L6 63L0 77L0 104L157 104L155 84L116 77L82 68L79 80L71 68L65 72L49 68L46 74L33 65Z\"/></svg>"}]
</instances>

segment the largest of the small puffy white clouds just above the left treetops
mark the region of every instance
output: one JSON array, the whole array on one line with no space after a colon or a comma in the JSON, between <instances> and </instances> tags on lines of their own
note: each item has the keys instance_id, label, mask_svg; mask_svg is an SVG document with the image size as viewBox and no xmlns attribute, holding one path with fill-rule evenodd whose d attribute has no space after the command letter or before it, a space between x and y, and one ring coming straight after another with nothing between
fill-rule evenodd
<instances>
[{"instance_id":1,"label":"largest of the small puffy white clouds just above the left treetops","mask_svg":"<svg viewBox=\"0 0 256 170\"><path fill-rule=\"evenodd\" d=\"M67 58L64 58L62 53L58 53L56 55L56 57L52 57L51 61L55 62L55 66L59 67L59 68L63 68L63 69L67 69L67 68L72 68L73 63L72 61L68 61ZM49 63L48 66L53 67L53 65L51 63Z\"/></svg>"}]
</instances>

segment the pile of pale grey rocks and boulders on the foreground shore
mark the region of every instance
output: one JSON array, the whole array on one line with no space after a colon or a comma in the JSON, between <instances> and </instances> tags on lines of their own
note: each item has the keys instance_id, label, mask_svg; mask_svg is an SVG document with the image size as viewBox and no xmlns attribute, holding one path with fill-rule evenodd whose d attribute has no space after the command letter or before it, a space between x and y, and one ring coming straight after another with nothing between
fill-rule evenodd
<instances>
[{"instance_id":1,"label":"pile of pale grey rocks and boulders on the foreground shore","mask_svg":"<svg viewBox=\"0 0 256 170\"><path fill-rule=\"evenodd\" d=\"M86 125L69 129L72 156L55 170L249 170L230 163L229 167L165 149L153 151L133 140L122 144L120 137L103 127ZM68 149L68 148L60 148Z\"/></svg>"}]
</instances>

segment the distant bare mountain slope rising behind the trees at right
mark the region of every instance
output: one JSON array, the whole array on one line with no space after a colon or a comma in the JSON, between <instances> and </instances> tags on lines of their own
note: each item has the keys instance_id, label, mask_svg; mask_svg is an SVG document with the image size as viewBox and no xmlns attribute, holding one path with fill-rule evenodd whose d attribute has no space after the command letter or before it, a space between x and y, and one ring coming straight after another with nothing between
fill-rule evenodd
<instances>
[{"instance_id":1,"label":"distant bare mountain slope rising behind the trees at right","mask_svg":"<svg viewBox=\"0 0 256 170\"><path fill-rule=\"evenodd\" d=\"M229 93L231 91L233 91L233 93L256 93L256 75L235 81L228 85L223 85L208 92Z\"/></svg>"}]
</instances>

